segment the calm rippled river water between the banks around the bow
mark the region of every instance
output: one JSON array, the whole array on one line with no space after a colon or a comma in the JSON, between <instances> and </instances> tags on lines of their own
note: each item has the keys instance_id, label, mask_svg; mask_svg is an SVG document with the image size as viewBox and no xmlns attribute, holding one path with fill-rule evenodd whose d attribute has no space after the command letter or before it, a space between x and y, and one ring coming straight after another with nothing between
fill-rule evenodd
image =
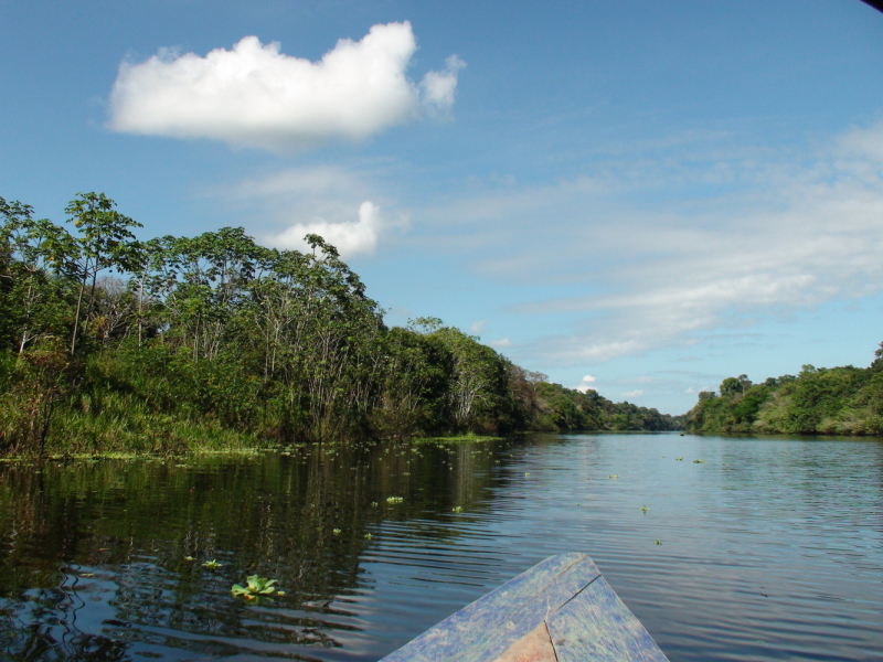
<instances>
[{"instance_id":1,"label":"calm rippled river water between the banks around the bow","mask_svg":"<svg viewBox=\"0 0 883 662\"><path fill-rule=\"evenodd\" d=\"M373 661L564 552L672 662L883 660L883 440L6 462L0 658ZM285 595L234 597L252 574Z\"/></svg>"}]
</instances>

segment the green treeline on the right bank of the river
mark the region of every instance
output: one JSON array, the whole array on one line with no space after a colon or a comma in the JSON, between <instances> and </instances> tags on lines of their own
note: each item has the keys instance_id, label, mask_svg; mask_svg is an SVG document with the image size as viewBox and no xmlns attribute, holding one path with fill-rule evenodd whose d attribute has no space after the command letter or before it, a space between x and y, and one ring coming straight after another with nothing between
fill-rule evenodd
<instances>
[{"instance_id":1,"label":"green treeline on the right bank of the river","mask_svg":"<svg viewBox=\"0 0 883 662\"><path fill-rule=\"evenodd\" d=\"M700 393L687 415L696 433L883 436L883 343L870 367L813 367L752 384L746 375Z\"/></svg>"}]
</instances>

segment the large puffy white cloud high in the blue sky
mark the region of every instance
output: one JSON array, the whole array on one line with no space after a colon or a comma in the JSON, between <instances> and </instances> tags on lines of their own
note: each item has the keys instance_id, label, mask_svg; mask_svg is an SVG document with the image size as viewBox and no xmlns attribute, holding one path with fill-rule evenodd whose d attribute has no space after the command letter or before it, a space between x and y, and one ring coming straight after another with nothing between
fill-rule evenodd
<instances>
[{"instance_id":1,"label":"large puffy white cloud high in the blue sky","mask_svg":"<svg viewBox=\"0 0 883 662\"><path fill-rule=\"evenodd\" d=\"M358 42L341 39L318 62L256 36L204 57L162 49L120 64L108 126L270 150L364 139L453 106L465 63L451 55L444 71L415 84L406 70L416 49L407 21L374 25Z\"/></svg>"}]
</instances>

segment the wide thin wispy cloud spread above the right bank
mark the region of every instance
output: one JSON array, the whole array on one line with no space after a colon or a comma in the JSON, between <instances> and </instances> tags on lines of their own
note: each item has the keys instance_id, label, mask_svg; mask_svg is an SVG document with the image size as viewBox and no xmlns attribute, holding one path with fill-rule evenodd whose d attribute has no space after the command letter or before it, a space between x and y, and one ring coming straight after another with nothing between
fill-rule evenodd
<instances>
[{"instance_id":1,"label":"wide thin wispy cloud spread above the right bank","mask_svg":"<svg viewBox=\"0 0 883 662\"><path fill-rule=\"evenodd\" d=\"M438 211L459 234L451 252L462 236L481 252L465 258L482 276L549 292L512 310L565 331L522 355L591 365L883 290L883 122L780 151L663 142Z\"/></svg>"}]
</instances>

